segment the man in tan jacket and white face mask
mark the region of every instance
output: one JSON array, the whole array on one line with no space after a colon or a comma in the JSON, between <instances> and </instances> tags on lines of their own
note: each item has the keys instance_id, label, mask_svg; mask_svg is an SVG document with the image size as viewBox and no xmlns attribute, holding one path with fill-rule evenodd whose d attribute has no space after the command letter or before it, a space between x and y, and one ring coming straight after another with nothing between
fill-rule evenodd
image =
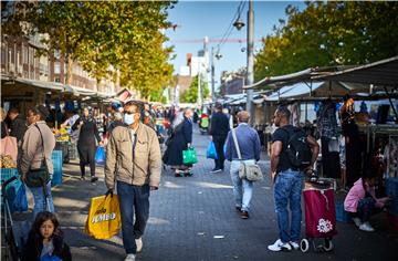
<instances>
[{"instance_id":1,"label":"man in tan jacket and white face mask","mask_svg":"<svg viewBox=\"0 0 398 261\"><path fill-rule=\"evenodd\" d=\"M138 104L127 102L124 112L126 126L115 127L106 146L105 182L111 194L117 186L125 260L132 261L143 248L149 190L159 187L161 155L155 130L139 122Z\"/></svg>"}]
</instances>

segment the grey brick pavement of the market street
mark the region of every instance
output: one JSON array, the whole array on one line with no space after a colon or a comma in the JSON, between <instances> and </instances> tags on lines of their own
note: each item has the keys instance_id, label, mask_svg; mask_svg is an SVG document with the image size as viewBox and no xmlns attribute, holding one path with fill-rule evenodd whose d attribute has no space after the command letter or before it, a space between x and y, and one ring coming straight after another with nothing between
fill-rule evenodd
<instances>
[{"instance_id":1,"label":"grey brick pavement of the market street","mask_svg":"<svg viewBox=\"0 0 398 261\"><path fill-rule=\"evenodd\" d=\"M375 233L338 223L332 252L270 252L266 246L276 239L277 230L269 179L255 184L250 219L242 220L233 205L229 164L226 173L209 174L213 167L205 155L209 140L195 134L199 163L192 177L176 178L170 170L164 171L160 189L150 195L150 219L137 260L398 260L397 237L381 223ZM268 177L269 160L260 165ZM96 184L81 181L77 163L64 165L69 177L53 189L55 209L74 260L124 260L121 234L95 240L82 231L90 198L106 191L103 168L97 173Z\"/></svg>"}]
</instances>

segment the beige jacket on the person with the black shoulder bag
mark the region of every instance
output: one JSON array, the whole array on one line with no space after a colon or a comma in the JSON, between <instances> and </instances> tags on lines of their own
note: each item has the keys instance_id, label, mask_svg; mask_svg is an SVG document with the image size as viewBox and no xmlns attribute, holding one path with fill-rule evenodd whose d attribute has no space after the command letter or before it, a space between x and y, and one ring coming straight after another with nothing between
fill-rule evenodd
<instances>
[{"instance_id":1,"label":"beige jacket on the person with the black shoulder bag","mask_svg":"<svg viewBox=\"0 0 398 261\"><path fill-rule=\"evenodd\" d=\"M43 135L44 156L49 167L49 173L53 174L51 154L55 147L55 137L44 121L38 122L36 124ZM35 124L31 124L28 127L28 130L22 139L22 156L20 160L20 170L22 174L27 174L29 168L40 168L43 159L42 138L39 129L34 125Z\"/></svg>"}]
</instances>

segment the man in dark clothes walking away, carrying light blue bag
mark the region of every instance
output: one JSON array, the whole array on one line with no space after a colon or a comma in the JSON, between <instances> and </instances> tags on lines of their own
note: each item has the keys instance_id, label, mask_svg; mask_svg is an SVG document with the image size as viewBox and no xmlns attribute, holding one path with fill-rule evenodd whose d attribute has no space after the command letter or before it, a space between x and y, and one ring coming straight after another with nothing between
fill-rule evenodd
<instances>
[{"instance_id":1,"label":"man in dark clothes walking away, carrying light blue bag","mask_svg":"<svg viewBox=\"0 0 398 261\"><path fill-rule=\"evenodd\" d=\"M224 152L223 146L227 139L229 132L229 122L228 116L222 113L222 104L216 103L216 113L211 115L210 123L210 135L212 136L212 142L214 143L217 159L214 159L214 168L211 173L221 173L224 169Z\"/></svg>"}]
</instances>

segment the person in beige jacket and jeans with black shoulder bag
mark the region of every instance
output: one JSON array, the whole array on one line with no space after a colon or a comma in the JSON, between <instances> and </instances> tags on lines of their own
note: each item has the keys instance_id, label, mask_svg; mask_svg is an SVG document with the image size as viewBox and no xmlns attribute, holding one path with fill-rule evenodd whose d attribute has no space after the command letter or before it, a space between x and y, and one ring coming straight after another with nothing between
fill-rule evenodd
<instances>
[{"instance_id":1,"label":"person in beige jacket and jeans with black shoulder bag","mask_svg":"<svg viewBox=\"0 0 398 261\"><path fill-rule=\"evenodd\" d=\"M35 106L28 111L27 119L29 127L23 135L22 155L19 160L19 169L24 182L27 181L29 170L39 169L43 159L45 159L50 176L53 174L51 154L55 147L55 137L44 122L48 116L49 111L43 105ZM54 212L54 205L51 196L51 180L45 185L45 188L46 189L43 189L42 187L30 187L34 199L33 219L39 212L45 210L46 203L49 205L46 206L48 209L51 212ZM46 191L46 196L44 195L44 191ZM48 198L48 200L45 198Z\"/></svg>"}]
</instances>

